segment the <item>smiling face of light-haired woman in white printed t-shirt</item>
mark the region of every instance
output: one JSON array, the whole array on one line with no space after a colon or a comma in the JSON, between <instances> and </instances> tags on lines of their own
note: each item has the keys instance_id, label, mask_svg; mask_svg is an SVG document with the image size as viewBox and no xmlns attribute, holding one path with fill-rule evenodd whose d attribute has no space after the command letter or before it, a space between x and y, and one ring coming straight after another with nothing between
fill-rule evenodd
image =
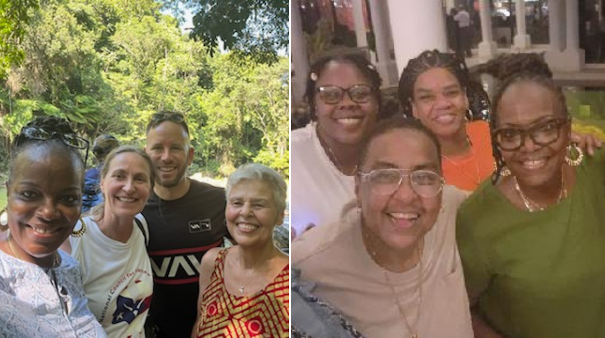
<instances>
[{"instance_id":1,"label":"smiling face of light-haired woman in white printed t-shirt","mask_svg":"<svg viewBox=\"0 0 605 338\"><path fill-rule=\"evenodd\" d=\"M152 168L140 154L132 151L118 153L105 165L100 182L105 199L103 218L132 219L143 211L151 193Z\"/></svg>"}]
</instances>

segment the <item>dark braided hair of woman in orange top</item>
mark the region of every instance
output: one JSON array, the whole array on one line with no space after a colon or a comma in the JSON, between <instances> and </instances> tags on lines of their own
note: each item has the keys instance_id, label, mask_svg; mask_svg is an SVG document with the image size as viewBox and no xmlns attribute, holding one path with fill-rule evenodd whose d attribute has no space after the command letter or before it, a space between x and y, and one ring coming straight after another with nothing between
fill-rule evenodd
<instances>
[{"instance_id":1,"label":"dark braided hair of woman in orange top","mask_svg":"<svg viewBox=\"0 0 605 338\"><path fill-rule=\"evenodd\" d=\"M454 53L442 53L435 49L425 50L416 58L410 59L401 73L397 98L399 98L399 104L401 104L405 117L413 117L411 101L414 98L414 84L416 84L418 76L432 68L445 68L456 76L468 98L473 116L484 114L484 110L489 110L487 93L479 82L469 76L464 60Z\"/></svg>"}]
</instances>

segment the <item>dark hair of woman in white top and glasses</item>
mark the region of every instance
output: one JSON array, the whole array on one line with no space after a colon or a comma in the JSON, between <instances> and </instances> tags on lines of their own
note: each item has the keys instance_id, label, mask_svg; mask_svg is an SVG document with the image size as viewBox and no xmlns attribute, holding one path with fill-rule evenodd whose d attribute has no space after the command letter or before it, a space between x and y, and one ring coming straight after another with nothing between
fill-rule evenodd
<instances>
[{"instance_id":1,"label":"dark hair of woman in white top and glasses","mask_svg":"<svg viewBox=\"0 0 605 338\"><path fill-rule=\"evenodd\" d=\"M357 68L361 75L364 76L364 78L370 81L370 87L373 88L374 97L378 102L378 119L380 119L382 114L382 98L380 91L382 79L378 74L378 71L376 71L376 67L374 67L374 65L371 64L370 61L365 58L365 56L359 53L324 56L311 66L309 75L307 75L307 88L304 94L305 98L307 99L307 103L309 104L310 118L313 121L317 119L315 114L316 83L317 80L321 78L321 73L324 71L325 65L327 65L329 62L352 64L353 67Z\"/></svg>"}]
</instances>

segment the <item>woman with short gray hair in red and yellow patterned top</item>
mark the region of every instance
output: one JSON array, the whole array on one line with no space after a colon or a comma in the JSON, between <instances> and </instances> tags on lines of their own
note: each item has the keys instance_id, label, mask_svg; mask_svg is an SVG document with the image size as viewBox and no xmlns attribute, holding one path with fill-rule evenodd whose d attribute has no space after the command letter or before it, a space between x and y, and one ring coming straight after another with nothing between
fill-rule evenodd
<instances>
[{"instance_id":1,"label":"woman with short gray hair in red and yellow patterned top","mask_svg":"<svg viewBox=\"0 0 605 338\"><path fill-rule=\"evenodd\" d=\"M201 260L192 337L288 336L288 256L273 244L286 191L280 174L261 164L244 164L229 176L225 218L237 245L212 248Z\"/></svg>"}]
</instances>

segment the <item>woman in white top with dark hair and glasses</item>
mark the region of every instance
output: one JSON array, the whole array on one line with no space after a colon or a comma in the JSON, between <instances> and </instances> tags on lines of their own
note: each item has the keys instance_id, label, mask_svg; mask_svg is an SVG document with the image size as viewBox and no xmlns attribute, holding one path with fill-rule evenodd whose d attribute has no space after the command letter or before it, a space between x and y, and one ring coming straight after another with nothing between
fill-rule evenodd
<instances>
[{"instance_id":1,"label":"woman in white top with dark hair and glasses","mask_svg":"<svg viewBox=\"0 0 605 338\"><path fill-rule=\"evenodd\" d=\"M333 222L353 199L364 136L381 111L382 80L362 55L319 59L307 77L312 122L292 131L292 232Z\"/></svg>"}]
</instances>

